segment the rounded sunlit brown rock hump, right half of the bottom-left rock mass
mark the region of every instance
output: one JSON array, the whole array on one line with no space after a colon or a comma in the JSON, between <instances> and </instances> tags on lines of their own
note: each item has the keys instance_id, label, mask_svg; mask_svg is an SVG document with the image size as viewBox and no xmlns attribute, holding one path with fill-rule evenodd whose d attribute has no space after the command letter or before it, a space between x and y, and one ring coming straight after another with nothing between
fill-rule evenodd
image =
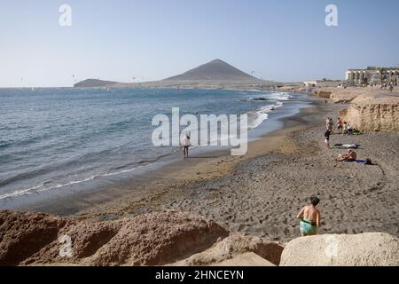
<instances>
[{"instance_id":1,"label":"rounded sunlit brown rock hump, right half of the bottom-left rock mass","mask_svg":"<svg viewBox=\"0 0 399 284\"><path fill-rule=\"evenodd\" d=\"M88 264L160 265L211 247L228 232L214 222L181 212L146 214L123 222Z\"/></svg>"}]
</instances>

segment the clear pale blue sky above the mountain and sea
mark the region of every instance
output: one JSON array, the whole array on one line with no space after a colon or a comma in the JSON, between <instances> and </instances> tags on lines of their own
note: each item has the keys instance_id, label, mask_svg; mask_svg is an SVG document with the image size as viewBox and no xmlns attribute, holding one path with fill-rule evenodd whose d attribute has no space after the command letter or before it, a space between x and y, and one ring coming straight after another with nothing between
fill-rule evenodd
<instances>
[{"instance_id":1,"label":"clear pale blue sky above the mountain and sea","mask_svg":"<svg viewBox=\"0 0 399 284\"><path fill-rule=\"evenodd\" d=\"M0 0L0 87L154 81L212 59L265 80L343 79L399 64L398 12L397 0Z\"/></svg>"}]
</instances>

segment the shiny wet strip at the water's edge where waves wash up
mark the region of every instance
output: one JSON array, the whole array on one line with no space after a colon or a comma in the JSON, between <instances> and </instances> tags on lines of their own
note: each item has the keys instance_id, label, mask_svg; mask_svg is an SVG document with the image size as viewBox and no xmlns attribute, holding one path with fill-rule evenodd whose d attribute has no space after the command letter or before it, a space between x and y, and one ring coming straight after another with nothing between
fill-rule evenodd
<instances>
[{"instance_id":1,"label":"shiny wet strip at the water's edge where waves wash up","mask_svg":"<svg viewBox=\"0 0 399 284\"><path fill-rule=\"evenodd\" d=\"M311 105L314 100L311 97L303 97L303 94L299 95L301 97L285 101L284 106L273 111L269 119L266 119L260 127L250 130L248 133L249 143L262 138L265 133L267 135L276 129L284 128L286 117L300 113L301 108ZM184 167L192 167L195 163L201 165L205 160L208 161L222 156L230 158L230 151L230 147L215 146L192 149L192 159L184 161L183 165ZM83 181L79 185L65 186L54 191L21 195L19 199L4 201L4 209L42 211L61 216L72 215L98 203L104 203L131 193L131 191L140 191L141 185L153 183L153 179L162 180L169 176L176 178L174 172L180 170L180 164L182 164L180 150L174 151L157 159L156 162L146 163L126 172L99 176L95 180ZM219 163L215 163L215 166L219 165ZM168 170L169 168L173 170ZM167 174L164 174L164 172ZM206 177L203 178L213 178L220 175L223 175L223 172L208 172ZM182 177L178 178L181 179ZM197 178L192 177L189 179L197 180Z\"/></svg>"}]
</instances>

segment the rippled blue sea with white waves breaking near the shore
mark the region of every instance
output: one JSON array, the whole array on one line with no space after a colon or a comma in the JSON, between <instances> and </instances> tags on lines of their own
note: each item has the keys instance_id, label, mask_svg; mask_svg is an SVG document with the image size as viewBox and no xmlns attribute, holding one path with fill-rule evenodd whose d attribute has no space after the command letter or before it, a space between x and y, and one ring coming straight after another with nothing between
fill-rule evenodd
<instances>
[{"instance_id":1,"label":"rippled blue sea with white waves breaking near the shore","mask_svg":"<svg viewBox=\"0 0 399 284\"><path fill-rule=\"evenodd\" d=\"M180 115L247 114L254 137L281 127L279 118L306 106L303 98L237 90L0 89L0 209L176 158L178 146L152 143L153 116L170 117L172 107Z\"/></svg>"}]
</instances>

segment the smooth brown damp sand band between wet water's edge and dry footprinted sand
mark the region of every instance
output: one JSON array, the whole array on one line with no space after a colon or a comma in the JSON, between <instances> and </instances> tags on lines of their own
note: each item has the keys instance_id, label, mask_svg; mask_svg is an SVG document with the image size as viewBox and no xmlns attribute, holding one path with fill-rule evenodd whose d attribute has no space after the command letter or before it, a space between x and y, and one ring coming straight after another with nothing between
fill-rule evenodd
<instances>
[{"instance_id":1,"label":"smooth brown damp sand band between wet water's edge and dry footprinted sand","mask_svg":"<svg viewBox=\"0 0 399 284\"><path fill-rule=\"evenodd\" d=\"M227 177L231 175L239 162L254 159L258 155L278 150L290 151L294 146L286 139L286 134L293 129L303 127L300 119L303 112L317 108L317 99L310 98L308 102L311 102L312 106L301 109L298 114L280 119L283 123L281 128L248 142L248 153L244 156L231 156L230 149L204 152L184 162L171 162L158 170L144 172L138 177L105 190L79 193L79 200L71 195L54 200L51 204L34 204L28 211L41 211L59 216L78 216L93 220L121 217L115 209L110 208L114 206L119 208L121 202L129 203L126 205L129 208L129 216L156 211L165 205L165 199L173 202L177 193L174 192L176 188L200 185L203 182ZM265 140L268 141L267 145L264 145ZM157 201L160 203L157 204ZM102 210L105 210L106 214L100 213Z\"/></svg>"}]
</instances>

